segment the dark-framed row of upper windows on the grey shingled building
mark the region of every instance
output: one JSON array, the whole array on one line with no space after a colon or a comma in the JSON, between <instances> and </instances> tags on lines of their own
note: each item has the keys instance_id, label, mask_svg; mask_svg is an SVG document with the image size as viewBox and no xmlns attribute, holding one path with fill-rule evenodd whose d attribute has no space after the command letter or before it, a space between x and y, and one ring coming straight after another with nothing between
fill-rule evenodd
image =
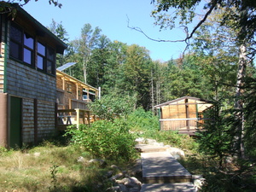
<instances>
[{"instance_id":1,"label":"dark-framed row of upper windows on the grey shingled building","mask_svg":"<svg viewBox=\"0 0 256 192\"><path fill-rule=\"evenodd\" d=\"M36 66L39 70L44 73L55 74L55 49L36 42L35 38L24 32L15 23L10 26L9 54L11 58L23 61L32 67L35 67L35 61L37 61Z\"/></svg>"}]
</instances>

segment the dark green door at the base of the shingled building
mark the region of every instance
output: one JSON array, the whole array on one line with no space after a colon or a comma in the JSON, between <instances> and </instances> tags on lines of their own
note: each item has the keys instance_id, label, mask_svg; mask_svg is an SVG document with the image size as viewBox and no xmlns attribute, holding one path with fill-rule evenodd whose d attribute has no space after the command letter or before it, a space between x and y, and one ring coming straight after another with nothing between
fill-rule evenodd
<instances>
[{"instance_id":1,"label":"dark green door at the base of the shingled building","mask_svg":"<svg viewBox=\"0 0 256 192\"><path fill-rule=\"evenodd\" d=\"M10 97L9 147L21 147L21 104L19 97Z\"/></svg>"}]
</instances>

